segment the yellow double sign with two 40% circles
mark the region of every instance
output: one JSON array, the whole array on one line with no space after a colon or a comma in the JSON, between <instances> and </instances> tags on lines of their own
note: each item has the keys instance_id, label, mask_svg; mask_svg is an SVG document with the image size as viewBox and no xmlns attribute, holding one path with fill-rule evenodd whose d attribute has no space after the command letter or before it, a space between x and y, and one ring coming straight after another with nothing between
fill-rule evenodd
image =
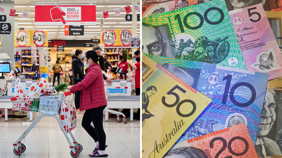
<instances>
[{"instance_id":1,"label":"yellow double sign with two 40% circles","mask_svg":"<svg viewBox=\"0 0 282 158\"><path fill-rule=\"evenodd\" d=\"M36 47L48 46L47 31L39 30L19 30L14 33L15 47Z\"/></svg>"}]
</instances>

